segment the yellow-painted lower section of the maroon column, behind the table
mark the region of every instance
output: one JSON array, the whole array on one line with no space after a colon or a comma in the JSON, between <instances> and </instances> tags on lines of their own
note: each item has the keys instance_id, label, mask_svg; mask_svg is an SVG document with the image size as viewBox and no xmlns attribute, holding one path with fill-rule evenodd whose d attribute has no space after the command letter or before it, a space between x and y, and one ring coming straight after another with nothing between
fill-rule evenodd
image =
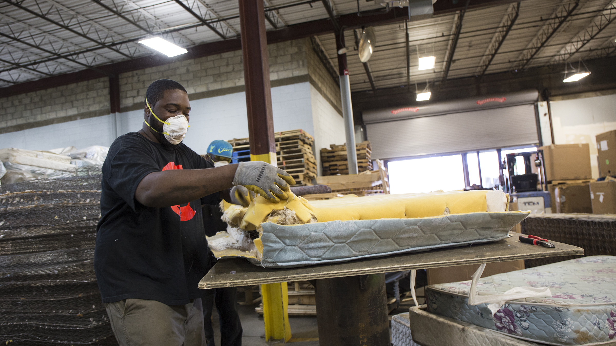
<instances>
[{"instance_id":1,"label":"yellow-painted lower section of the maroon column, behind the table","mask_svg":"<svg viewBox=\"0 0 616 346\"><path fill-rule=\"evenodd\" d=\"M276 153L250 155L250 161L264 161L277 166ZM265 324L265 341L270 339L287 342L291 339L291 325L287 307L289 305L286 283L262 284L263 322Z\"/></svg>"}]
</instances>

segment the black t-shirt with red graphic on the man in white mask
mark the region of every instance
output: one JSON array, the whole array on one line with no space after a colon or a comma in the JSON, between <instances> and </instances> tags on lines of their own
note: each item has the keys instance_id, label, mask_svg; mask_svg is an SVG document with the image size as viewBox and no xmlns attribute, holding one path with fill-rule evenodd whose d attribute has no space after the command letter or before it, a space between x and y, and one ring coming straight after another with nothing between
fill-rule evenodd
<instances>
[{"instance_id":1,"label":"black t-shirt with red graphic on the man in white mask","mask_svg":"<svg viewBox=\"0 0 616 346\"><path fill-rule=\"evenodd\" d=\"M111 144L94 250L103 302L137 298L182 305L212 294L197 288L210 267L201 204L217 204L219 193L162 208L135 199L137 185L152 172L210 167L184 143L163 148L137 132Z\"/></svg>"}]
</instances>

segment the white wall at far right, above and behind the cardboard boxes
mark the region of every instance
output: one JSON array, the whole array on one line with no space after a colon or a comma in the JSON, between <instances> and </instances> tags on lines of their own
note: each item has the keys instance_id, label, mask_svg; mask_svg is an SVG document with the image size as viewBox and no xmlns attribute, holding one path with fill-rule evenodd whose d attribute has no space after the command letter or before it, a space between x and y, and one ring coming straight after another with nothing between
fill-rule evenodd
<instances>
[{"instance_id":1,"label":"white wall at far right, above and behind the cardboard boxes","mask_svg":"<svg viewBox=\"0 0 616 346\"><path fill-rule=\"evenodd\" d=\"M616 130L616 94L551 101L550 107L555 144L589 143L593 178L598 178L595 136Z\"/></svg>"}]
</instances>

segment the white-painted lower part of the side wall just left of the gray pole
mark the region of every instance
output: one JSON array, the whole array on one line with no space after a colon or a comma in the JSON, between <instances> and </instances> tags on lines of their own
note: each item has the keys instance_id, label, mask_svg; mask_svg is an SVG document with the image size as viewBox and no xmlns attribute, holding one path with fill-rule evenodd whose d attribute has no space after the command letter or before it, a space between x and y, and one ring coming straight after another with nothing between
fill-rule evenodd
<instances>
[{"instance_id":1,"label":"white-painted lower part of the side wall just left of the gray pole","mask_svg":"<svg viewBox=\"0 0 616 346\"><path fill-rule=\"evenodd\" d=\"M310 86L310 100L312 105L312 123L314 124L314 147L317 158L318 175L322 174L321 148L329 148L330 144L346 142L344 134L344 119L317 89Z\"/></svg>"}]
</instances>

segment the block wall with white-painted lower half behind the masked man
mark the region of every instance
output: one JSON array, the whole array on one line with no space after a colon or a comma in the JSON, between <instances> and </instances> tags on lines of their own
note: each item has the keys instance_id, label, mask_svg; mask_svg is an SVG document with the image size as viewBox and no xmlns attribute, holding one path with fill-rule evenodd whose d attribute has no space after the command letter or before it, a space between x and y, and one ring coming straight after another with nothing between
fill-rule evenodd
<instances>
[{"instance_id":1,"label":"block wall with white-painted lower half behind the masked man","mask_svg":"<svg viewBox=\"0 0 616 346\"><path fill-rule=\"evenodd\" d=\"M268 46L274 131L303 129L320 148L345 140L339 87L310 39ZM142 127L144 96L156 79L182 83L190 97L185 143L205 153L214 139L248 137L241 50L120 75L118 135ZM110 146L115 139L107 78L0 98L0 147L49 150Z\"/></svg>"}]
</instances>

